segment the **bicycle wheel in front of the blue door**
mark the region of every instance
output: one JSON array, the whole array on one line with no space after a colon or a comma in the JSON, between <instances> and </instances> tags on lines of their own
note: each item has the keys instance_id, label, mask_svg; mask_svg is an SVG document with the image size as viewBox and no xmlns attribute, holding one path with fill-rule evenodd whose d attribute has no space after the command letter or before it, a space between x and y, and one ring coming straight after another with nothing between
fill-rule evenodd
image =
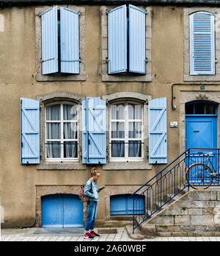
<instances>
[{"instance_id":1,"label":"bicycle wheel in front of the blue door","mask_svg":"<svg viewBox=\"0 0 220 256\"><path fill-rule=\"evenodd\" d=\"M204 190L213 182L213 172L209 166L203 163L194 163L186 172L186 179L191 188ZM202 188L198 188L202 186Z\"/></svg>"}]
</instances>

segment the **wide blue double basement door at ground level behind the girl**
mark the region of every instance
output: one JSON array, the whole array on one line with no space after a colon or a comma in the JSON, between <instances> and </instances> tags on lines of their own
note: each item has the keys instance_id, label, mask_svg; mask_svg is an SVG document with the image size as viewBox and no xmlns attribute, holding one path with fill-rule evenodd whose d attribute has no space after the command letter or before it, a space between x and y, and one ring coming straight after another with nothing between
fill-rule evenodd
<instances>
[{"instance_id":1,"label":"wide blue double basement door at ground level behind the girl","mask_svg":"<svg viewBox=\"0 0 220 256\"><path fill-rule=\"evenodd\" d=\"M83 227L83 203L78 196L54 194L42 197L42 227Z\"/></svg>"}]
</instances>

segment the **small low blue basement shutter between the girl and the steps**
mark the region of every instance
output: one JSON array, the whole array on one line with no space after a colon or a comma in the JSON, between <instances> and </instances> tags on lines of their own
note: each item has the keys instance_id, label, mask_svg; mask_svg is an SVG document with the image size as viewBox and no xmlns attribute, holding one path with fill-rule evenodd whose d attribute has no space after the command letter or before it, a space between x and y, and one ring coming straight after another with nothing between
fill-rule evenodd
<instances>
[{"instance_id":1,"label":"small low blue basement shutter between the girl and the steps","mask_svg":"<svg viewBox=\"0 0 220 256\"><path fill-rule=\"evenodd\" d=\"M144 196L135 196L135 213L144 214ZM111 215L132 215L133 196L129 194L116 195L110 197Z\"/></svg>"}]
</instances>

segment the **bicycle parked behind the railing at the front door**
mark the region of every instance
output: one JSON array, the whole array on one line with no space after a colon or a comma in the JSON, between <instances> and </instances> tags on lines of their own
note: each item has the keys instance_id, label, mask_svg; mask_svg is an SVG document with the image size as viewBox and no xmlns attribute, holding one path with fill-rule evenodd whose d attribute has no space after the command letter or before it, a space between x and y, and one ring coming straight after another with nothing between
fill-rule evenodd
<instances>
[{"instance_id":1,"label":"bicycle parked behind the railing at the front door","mask_svg":"<svg viewBox=\"0 0 220 256\"><path fill-rule=\"evenodd\" d=\"M199 157L201 157L202 153L198 152L198 154ZM197 190L205 190L213 183L213 179L219 179L220 173L219 171L218 173L216 172L216 169L214 168L213 163L210 160L211 155L213 155L213 152L202 154L202 157L208 158L208 163L199 162L189 166L188 171L186 171L186 180L191 188ZM198 186L201 185L202 188L199 188Z\"/></svg>"}]
</instances>

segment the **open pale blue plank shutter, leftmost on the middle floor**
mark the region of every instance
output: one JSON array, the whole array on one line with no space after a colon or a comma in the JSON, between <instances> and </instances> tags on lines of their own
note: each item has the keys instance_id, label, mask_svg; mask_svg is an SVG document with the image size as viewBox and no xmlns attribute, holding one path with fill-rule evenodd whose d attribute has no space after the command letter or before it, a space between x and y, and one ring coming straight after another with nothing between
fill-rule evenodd
<instances>
[{"instance_id":1,"label":"open pale blue plank shutter, leftmost on the middle floor","mask_svg":"<svg viewBox=\"0 0 220 256\"><path fill-rule=\"evenodd\" d=\"M40 105L34 99L20 99L21 163L40 163Z\"/></svg>"}]
</instances>

